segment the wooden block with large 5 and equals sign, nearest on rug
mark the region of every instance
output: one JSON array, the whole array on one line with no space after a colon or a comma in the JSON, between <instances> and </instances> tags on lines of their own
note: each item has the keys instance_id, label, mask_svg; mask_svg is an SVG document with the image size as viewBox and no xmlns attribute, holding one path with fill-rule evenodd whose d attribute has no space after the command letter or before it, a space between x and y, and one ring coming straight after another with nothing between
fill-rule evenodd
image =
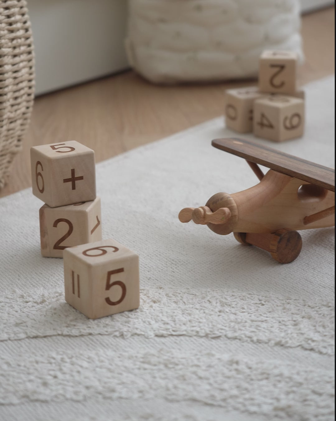
<instances>
[{"instance_id":1,"label":"wooden block with large 5 and equals sign, nearest on rug","mask_svg":"<svg viewBox=\"0 0 336 421\"><path fill-rule=\"evenodd\" d=\"M66 302L89 319L139 307L139 256L114 240L64 250Z\"/></svg>"}]
</instances>

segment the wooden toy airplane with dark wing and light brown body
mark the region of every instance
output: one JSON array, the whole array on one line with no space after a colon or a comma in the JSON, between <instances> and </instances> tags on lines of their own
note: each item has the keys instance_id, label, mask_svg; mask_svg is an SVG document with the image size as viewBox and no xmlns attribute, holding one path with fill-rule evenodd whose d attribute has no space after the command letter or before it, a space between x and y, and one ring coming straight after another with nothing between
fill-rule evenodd
<instances>
[{"instance_id":1,"label":"wooden toy airplane with dark wing and light brown body","mask_svg":"<svg viewBox=\"0 0 336 421\"><path fill-rule=\"evenodd\" d=\"M299 256L296 230L335 225L335 170L243 139L215 139L215 148L247 160L260 182L228 195L217 193L205 206L184 208L181 222L207 225L217 234L270 252L280 263ZM264 175L260 165L270 168Z\"/></svg>"}]
</instances>

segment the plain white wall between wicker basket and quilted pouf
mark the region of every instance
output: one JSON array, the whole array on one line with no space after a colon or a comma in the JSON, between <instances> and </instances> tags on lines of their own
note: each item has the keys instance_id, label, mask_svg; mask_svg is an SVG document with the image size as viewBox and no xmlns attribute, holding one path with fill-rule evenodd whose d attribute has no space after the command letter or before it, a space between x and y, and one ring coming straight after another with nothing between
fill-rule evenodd
<instances>
[{"instance_id":1,"label":"plain white wall between wicker basket and quilted pouf","mask_svg":"<svg viewBox=\"0 0 336 421\"><path fill-rule=\"evenodd\" d=\"M36 94L127 67L126 0L28 0Z\"/></svg>"}]
</instances>

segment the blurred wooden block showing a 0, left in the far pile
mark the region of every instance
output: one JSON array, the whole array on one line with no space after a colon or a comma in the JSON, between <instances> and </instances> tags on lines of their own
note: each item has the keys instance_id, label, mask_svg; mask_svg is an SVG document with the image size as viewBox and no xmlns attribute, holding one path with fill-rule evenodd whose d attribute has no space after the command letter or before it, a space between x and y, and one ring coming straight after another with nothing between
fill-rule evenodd
<instances>
[{"instance_id":1,"label":"blurred wooden block showing a 0, left in the far pile","mask_svg":"<svg viewBox=\"0 0 336 421\"><path fill-rule=\"evenodd\" d=\"M228 89L225 96L226 127L239 133L252 132L253 101L261 96L256 86Z\"/></svg>"}]
</instances>

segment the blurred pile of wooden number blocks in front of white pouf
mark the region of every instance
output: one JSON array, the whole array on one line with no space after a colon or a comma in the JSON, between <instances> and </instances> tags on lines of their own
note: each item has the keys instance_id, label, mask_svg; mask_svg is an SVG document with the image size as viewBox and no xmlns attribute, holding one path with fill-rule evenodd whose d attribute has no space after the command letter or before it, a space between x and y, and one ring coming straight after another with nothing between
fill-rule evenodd
<instances>
[{"instance_id":1,"label":"blurred pile of wooden number blocks in front of white pouf","mask_svg":"<svg viewBox=\"0 0 336 421\"><path fill-rule=\"evenodd\" d=\"M264 51L259 87L228 89L226 127L281 142L303 135L304 91L297 90L297 54Z\"/></svg>"}]
</instances>

